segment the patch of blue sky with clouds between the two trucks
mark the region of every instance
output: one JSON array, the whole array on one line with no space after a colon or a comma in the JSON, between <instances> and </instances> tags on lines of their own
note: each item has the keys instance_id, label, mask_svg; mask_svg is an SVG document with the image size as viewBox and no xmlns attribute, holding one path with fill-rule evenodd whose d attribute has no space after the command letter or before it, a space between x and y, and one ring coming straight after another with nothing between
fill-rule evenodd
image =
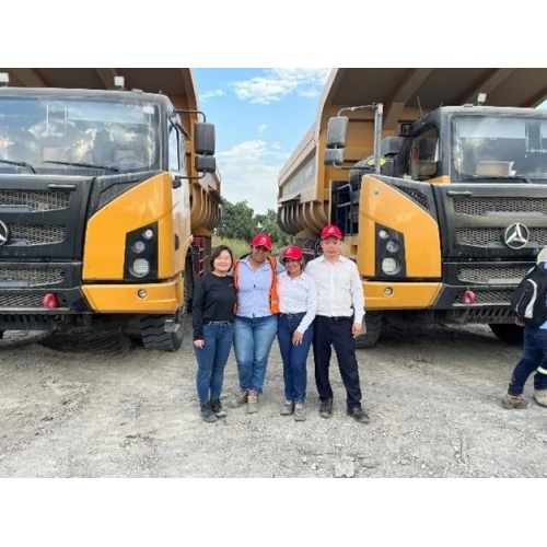
<instances>
[{"instance_id":1,"label":"patch of blue sky with clouds between the two trucks","mask_svg":"<svg viewBox=\"0 0 547 547\"><path fill-rule=\"evenodd\" d=\"M312 127L327 68L194 69L200 108L216 125L222 196L277 210L278 174Z\"/></svg>"}]
</instances>

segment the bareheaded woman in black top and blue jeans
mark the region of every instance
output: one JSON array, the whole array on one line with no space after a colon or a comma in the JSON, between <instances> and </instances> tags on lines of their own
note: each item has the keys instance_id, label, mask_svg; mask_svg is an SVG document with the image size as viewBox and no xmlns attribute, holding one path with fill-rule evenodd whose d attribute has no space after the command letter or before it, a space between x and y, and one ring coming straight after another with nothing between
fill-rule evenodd
<instances>
[{"instance_id":1,"label":"bareheaded woman in black top and blue jeans","mask_svg":"<svg viewBox=\"0 0 547 547\"><path fill-rule=\"evenodd\" d=\"M233 277L228 275L233 261L230 247L213 248L211 272L199 278L194 289L191 323L198 361L196 385L205 421L226 416L220 394L234 337L232 322L236 295Z\"/></svg>"}]
</instances>

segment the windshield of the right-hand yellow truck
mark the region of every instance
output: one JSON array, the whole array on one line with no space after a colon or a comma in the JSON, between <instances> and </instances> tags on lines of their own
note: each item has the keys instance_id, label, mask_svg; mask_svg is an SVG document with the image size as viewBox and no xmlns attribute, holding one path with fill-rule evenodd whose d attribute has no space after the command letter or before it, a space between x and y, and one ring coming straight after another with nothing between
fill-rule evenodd
<instances>
[{"instance_id":1,"label":"windshield of the right-hand yellow truck","mask_svg":"<svg viewBox=\"0 0 547 547\"><path fill-rule=\"evenodd\" d=\"M461 179L547 182L547 118L454 117L452 158Z\"/></svg>"}]
</instances>

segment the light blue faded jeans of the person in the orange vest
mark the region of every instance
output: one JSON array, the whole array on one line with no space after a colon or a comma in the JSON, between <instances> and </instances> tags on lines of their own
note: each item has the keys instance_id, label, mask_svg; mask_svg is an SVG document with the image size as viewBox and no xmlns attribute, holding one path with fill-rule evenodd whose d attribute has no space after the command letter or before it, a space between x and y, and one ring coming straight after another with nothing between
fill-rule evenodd
<instances>
[{"instance_id":1,"label":"light blue faded jeans of the person in the orange vest","mask_svg":"<svg viewBox=\"0 0 547 547\"><path fill-rule=\"evenodd\" d=\"M277 334L277 315L234 318L234 352L240 387L263 393L268 356Z\"/></svg>"}]
</instances>

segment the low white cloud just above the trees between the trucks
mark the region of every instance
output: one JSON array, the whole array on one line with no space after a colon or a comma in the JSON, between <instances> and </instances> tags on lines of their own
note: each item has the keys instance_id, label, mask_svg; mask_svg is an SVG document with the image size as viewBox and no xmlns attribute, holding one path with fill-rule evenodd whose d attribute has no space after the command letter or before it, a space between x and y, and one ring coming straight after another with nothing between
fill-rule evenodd
<instances>
[{"instance_id":1,"label":"low white cloud just above the trees between the trucks","mask_svg":"<svg viewBox=\"0 0 547 547\"><path fill-rule=\"evenodd\" d=\"M222 196L231 203L247 201L255 213L276 211L279 171L288 155L260 139L218 152Z\"/></svg>"}]
</instances>

